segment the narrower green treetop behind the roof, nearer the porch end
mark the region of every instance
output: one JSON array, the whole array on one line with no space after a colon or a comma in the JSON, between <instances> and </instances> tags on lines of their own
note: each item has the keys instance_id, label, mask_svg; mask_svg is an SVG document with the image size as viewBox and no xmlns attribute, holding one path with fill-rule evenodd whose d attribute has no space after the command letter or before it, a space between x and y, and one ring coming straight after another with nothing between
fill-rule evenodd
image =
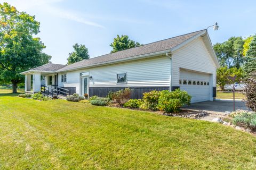
<instances>
[{"instance_id":1,"label":"narrower green treetop behind the roof, nearer the porch end","mask_svg":"<svg viewBox=\"0 0 256 170\"><path fill-rule=\"evenodd\" d=\"M76 43L73 48L74 52L69 53L69 57L67 58L68 64L73 64L90 58L90 55L88 54L88 49L85 47L85 45L78 45Z\"/></svg>"}]
</instances>

